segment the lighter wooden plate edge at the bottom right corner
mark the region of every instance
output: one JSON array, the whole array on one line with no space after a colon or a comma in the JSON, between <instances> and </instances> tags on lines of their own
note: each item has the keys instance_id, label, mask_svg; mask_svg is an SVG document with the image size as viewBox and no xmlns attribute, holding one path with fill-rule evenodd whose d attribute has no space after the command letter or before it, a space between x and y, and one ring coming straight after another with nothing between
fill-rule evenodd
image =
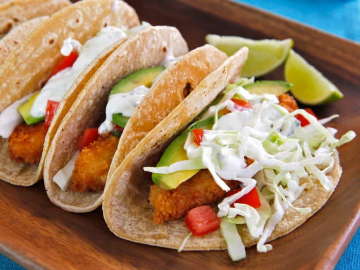
<instances>
[{"instance_id":1,"label":"lighter wooden plate edge at the bottom right corner","mask_svg":"<svg viewBox=\"0 0 360 270\"><path fill-rule=\"evenodd\" d=\"M335 239L335 241L328 247L324 257L316 265L315 269L334 269L335 265L339 261L342 253L349 245L354 234L358 230L360 225L360 202L354 215L349 219L342 230L342 233Z\"/></svg>"}]
</instances>

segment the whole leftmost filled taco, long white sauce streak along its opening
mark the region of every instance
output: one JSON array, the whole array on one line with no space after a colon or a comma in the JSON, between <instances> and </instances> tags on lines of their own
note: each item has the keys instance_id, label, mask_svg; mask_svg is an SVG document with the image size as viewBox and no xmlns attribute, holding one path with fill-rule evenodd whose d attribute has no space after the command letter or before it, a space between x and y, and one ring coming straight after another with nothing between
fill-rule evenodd
<instances>
[{"instance_id":1,"label":"whole leftmost filled taco, long white sauce streak along its opening","mask_svg":"<svg viewBox=\"0 0 360 270\"><path fill-rule=\"evenodd\" d=\"M0 68L1 180L29 186L42 178L48 147L78 93L127 36L146 26L123 1L84 0L19 44Z\"/></svg>"}]
</instances>

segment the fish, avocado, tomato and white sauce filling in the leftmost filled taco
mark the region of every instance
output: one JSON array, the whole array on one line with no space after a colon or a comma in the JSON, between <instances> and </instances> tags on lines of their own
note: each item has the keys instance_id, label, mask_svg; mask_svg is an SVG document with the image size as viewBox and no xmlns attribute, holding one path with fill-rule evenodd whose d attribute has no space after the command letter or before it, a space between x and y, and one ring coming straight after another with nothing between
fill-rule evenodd
<instances>
[{"instance_id":1,"label":"fish, avocado, tomato and white sauce filling in the leftmost filled taco","mask_svg":"<svg viewBox=\"0 0 360 270\"><path fill-rule=\"evenodd\" d=\"M104 27L84 45L71 37L65 39L60 51L64 58L45 86L40 91L16 101L0 114L0 136L8 138L11 160L28 164L39 163L45 136L56 109L76 78L108 46L148 25L143 23L130 30Z\"/></svg>"}]
</instances>

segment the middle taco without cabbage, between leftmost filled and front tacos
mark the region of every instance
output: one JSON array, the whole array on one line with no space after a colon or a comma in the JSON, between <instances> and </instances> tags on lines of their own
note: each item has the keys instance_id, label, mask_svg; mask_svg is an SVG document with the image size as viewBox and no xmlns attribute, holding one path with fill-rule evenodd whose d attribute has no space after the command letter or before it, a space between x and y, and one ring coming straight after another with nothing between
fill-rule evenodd
<instances>
[{"instance_id":1,"label":"middle taco without cabbage, between leftmost filled and front tacos","mask_svg":"<svg viewBox=\"0 0 360 270\"><path fill-rule=\"evenodd\" d=\"M100 206L107 180L126 155L227 58L209 45L186 53L177 29L156 26L108 57L50 147L44 181L54 204L72 212Z\"/></svg>"}]
</instances>

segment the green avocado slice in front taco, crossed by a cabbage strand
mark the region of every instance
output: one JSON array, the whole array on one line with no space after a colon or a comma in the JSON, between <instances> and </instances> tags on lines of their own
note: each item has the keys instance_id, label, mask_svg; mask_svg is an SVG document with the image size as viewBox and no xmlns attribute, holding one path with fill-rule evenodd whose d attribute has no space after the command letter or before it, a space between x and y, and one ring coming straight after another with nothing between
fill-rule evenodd
<instances>
[{"instance_id":1,"label":"green avocado slice in front taco, crossed by a cabbage strand","mask_svg":"<svg viewBox=\"0 0 360 270\"><path fill-rule=\"evenodd\" d=\"M188 160L184 144L188 133L195 128L211 129L214 125L214 117L209 117L204 120L199 120L193 125L189 126L181 135L167 146L165 152L156 167L169 166L175 162ZM182 182L188 180L198 173L199 170L179 171L171 174L152 174L152 180L162 189L177 188Z\"/></svg>"}]
</instances>

